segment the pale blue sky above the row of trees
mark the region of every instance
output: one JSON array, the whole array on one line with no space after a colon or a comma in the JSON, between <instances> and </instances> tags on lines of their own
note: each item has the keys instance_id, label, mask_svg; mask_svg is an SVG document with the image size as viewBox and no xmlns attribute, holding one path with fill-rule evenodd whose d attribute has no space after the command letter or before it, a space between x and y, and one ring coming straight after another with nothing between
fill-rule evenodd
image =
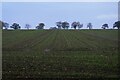
<instances>
[{"instance_id":1,"label":"pale blue sky above the row of trees","mask_svg":"<svg viewBox=\"0 0 120 80\"><path fill-rule=\"evenodd\" d=\"M89 22L95 29L108 23L112 28L118 20L118 2L3 2L0 19L10 25L17 22L22 28L26 23L35 28L40 22L49 28L56 26L56 21L68 21L70 24L79 21L84 29Z\"/></svg>"}]
</instances>

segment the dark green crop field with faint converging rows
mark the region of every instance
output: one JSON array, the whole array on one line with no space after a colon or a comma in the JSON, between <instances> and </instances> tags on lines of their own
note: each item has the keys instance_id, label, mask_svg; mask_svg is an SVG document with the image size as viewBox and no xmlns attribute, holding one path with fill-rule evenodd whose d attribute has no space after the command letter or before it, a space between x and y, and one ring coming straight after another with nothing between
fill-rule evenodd
<instances>
[{"instance_id":1,"label":"dark green crop field with faint converging rows","mask_svg":"<svg viewBox=\"0 0 120 80\"><path fill-rule=\"evenodd\" d=\"M3 30L3 78L118 78L118 30Z\"/></svg>"}]
</instances>

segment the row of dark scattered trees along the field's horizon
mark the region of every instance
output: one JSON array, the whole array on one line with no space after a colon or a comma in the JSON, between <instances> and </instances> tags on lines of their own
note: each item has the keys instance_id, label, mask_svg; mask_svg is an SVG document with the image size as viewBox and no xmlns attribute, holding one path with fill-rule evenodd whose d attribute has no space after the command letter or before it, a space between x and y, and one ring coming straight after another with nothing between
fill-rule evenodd
<instances>
[{"instance_id":1,"label":"row of dark scattered trees along the field's horizon","mask_svg":"<svg viewBox=\"0 0 120 80\"><path fill-rule=\"evenodd\" d=\"M81 29L83 27L83 24L80 24L80 22L76 22L76 21L72 22L71 25L67 21L64 21L64 22L59 21L59 22L56 22L55 24L57 27L50 27L49 29L69 29L70 26L71 26L71 28L74 28L74 29L77 29L77 28ZM39 23L35 28L36 29L44 29L44 26L45 26L45 23ZM1 29L3 29L3 28L4 29L13 28L14 30L21 29L21 26L18 23L13 23L11 26L9 26L8 23L3 22L3 21L0 21L0 27L1 27ZM29 29L30 27L31 27L30 24L25 24L26 29ZM92 27L93 27L92 23L87 24L87 28L93 29ZM120 21L117 21L113 24L113 29L115 27L120 29ZM108 24L105 23L102 25L101 28L106 29L106 28L109 28L109 26L108 26Z\"/></svg>"}]
</instances>

